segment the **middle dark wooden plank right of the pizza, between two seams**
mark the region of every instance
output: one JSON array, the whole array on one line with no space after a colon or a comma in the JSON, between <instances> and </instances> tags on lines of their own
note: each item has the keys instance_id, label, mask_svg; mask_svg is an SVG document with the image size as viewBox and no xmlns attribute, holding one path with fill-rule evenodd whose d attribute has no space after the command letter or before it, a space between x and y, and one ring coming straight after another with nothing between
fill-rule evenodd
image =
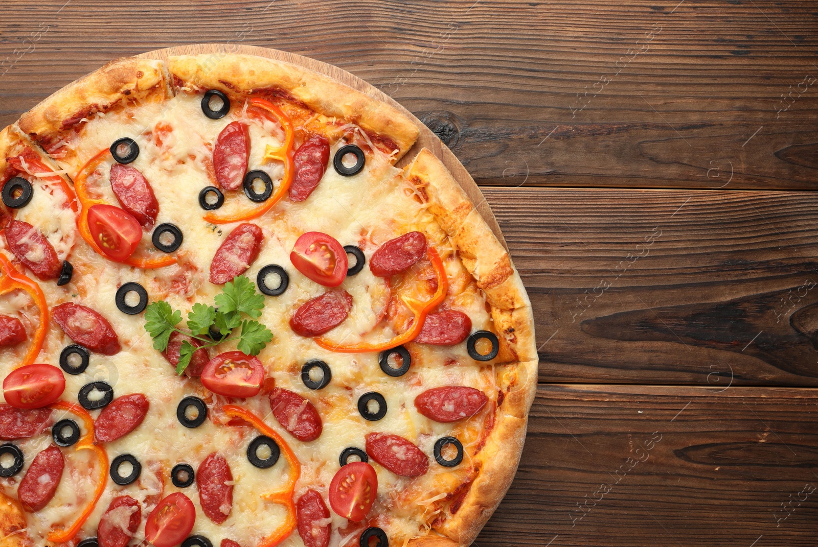
<instances>
[{"instance_id":1,"label":"middle dark wooden plank right of the pizza, between two seams","mask_svg":"<svg viewBox=\"0 0 818 547\"><path fill-rule=\"evenodd\" d=\"M543 381L818 385L818 195L483 187Z\"/></svg>"}]
</instances>

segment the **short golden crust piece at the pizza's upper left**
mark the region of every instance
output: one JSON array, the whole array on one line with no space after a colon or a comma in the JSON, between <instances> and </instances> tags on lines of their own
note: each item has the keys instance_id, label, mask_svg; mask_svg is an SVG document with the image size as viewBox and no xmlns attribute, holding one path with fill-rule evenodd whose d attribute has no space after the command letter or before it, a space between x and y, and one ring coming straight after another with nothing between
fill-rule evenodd
<instances>
[{"instance_id":1,"label":"short golden crust piece at the pizza's upper left","mask_svg":"<svg viewBox=\"0 0 818 547\"><path fill-rule=\"evenodd\" d=\"M82 119L110 110L121 101L173 95L161 61L125 57L79 78L20 117L19 127L48 148Z\"/></svg>"}]
</instances>

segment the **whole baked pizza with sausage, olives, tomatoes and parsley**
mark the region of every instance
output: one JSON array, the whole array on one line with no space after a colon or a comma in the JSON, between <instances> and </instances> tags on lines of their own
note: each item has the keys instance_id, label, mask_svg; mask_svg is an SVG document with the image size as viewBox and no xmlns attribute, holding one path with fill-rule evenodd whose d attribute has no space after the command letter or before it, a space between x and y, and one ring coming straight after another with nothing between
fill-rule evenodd
<instances>
[{"instance_id":1,"label":"whole baked pizza with sausage, olives, tomatoes and parsley","mask_svg":"<svg viewBox=\"0 0 818 547\"><path fill-rule=\"evenodd\" d=\"M0 132L0 545L469 545L533 317L418 135L228 53L112 61Z\"/></svg>"}]
</instances>

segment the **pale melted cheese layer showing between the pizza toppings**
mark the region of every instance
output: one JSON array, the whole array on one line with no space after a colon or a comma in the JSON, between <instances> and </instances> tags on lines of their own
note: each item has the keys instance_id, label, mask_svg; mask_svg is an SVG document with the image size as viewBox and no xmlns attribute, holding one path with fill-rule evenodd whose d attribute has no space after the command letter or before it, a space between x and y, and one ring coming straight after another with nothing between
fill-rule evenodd
<instances>
[{"instance_id":1,"label":"pale melted cheese layer showing between the pizza toppings","mask_svg":"<svg viewBox=\"0 0 818 547\"><path fill-rule=\"evenodd\" d=\"M182 427L176 417L176 408L183 397L196 395L208 399L211 412L214 406L226 400L213 397L202 388L198 379L180 378L174 374L173 367L153 349L142 315L129 316L115 306L116 289L128 281L141 283L151 300L165 300L175 309L182 310L183 315L193 303L213 303L213 296L220 292L220 287L207 280L209 266L216 249L236 224L214 226L205 222L198 195L203 187L213 184L209 167L213 141L227 123L244 115L243 111L234 112L236 115L228 114L220 120L207 119L201 113L198 96L180 94L163 105L110 112L104 117L97 115L88 121L81 138L76 141L76 155L61 162L61 167L74 177L99 150L108 148L120 137L133 138L141 153L132 165L151 183L160 204L157 224L173 222L184 235L178 252L180 264L149 271L110 262L79 239L71 254L73 282L65 287L57 287L52 282L43 284L50 306L78 302L106 316L124 347L115 356L92 353L85 373L66 374L63 398L73 400L83 384L105 380L113 386L116 397L140 392L151 401L146 419L133 433L106 444L110 460L120 454L136 456L142 463L141 478L129 486L116 486L109 481L80 537L95 536L97 523L110 500L116 495L128 494L142 503L142 524L131 544L137 545L144 537L144 521L156 500L180 490L169 480L173 465L184 462L197 469L205 456L214 451L223 455L230 465L236 484L233 507L226 522L213 524L201 511L196 485L182 489L196 505L193 533L209 537L213 545L218 545L222 538L230 538L244 547L251 547L285 522L283 507L262 497L285 484L287 464L284 458L270 469L257 469L249 464L247 446L258 435L253 428L213 424L211 420L195 429ZM281 130L269 122L248 123L252 143L249 169L263 168L277 181L283 173L281 165L261 164L261 159L268 145L281 146ZM330 158L343 144L338 142L332 146ZM89 182L98 195L108 203L116 204L110 191L109 170L110 161L103 163ZM36 193L38 196L43 194L45 192ZM32 201L36 206L30 209L30 214L36 217L38 226L56 222L55 226L65 228L64 221L49 217L49 205L37 200L41 197ZM42 200L46 198L42 197ZM243 192L227 192L226 204L217 213L250 205L252 203ZM468 385L483 390L493 401L497 390L492 365L471 360L465 352L465 343L455 347L414 344L411 346L414 361L410 372L401 378L392 378L380 370L376 353L329 352L318 347L312 339L294 334L288 323L294 310L309 298L324 293L326 288L296 271L290 264L289 254L303 232L322 231L333 235L342 245L362 247L368 262L380 244L407 231L420 230L425 231L429 240L447 257L449 278L455 280L467 274L454 249L416 198L411 183L389 164L388 156L380 153L368 155L366 168L353 177L335 173L330 161L330 168L308 200L303 203L282 200L269 213L250 222L261 226L264 242L258 259L245 275L255 281L258 271L268 264L278 264L290 275L290 286L284 294L265 297L259 321L272 330L275 338L258 357L266 367L267 376L274 378L277 386L298 392L312 401L321 415L323 433L314 442L299 442L272 417L265 397L254 397L240 401L240 404L263 417L294 450L302 465L296 499L304 490L314 488L326 500L330 481L339 469L339 454L348 446L363 448L367 433L396 433L414 442L429 456L429 473L420 478L401 478L375 464L379 486L378 500L371 512L374 516L372 524L383 527L393 545L402 545L405 540L424 534L440 512L440 504L444 503L447 493L467 480L470 473L466 463L453 470L436 464L432 451L434 442L447 435L461 438L466 446L466 461L470 461L469 452L477 449L483 418L488 410L463 423L438 424L417 412L415 397L429 388ZM150 244L148 234L142 240L142 245L146 244ZM356 276L344 280L341 289L353 295L354 303L348 319L330 333L333 339L354 341L361 339L362 335L375 339L393 336L381 321L389 302L389 289L384 280L372 276L369 267L364 267ZM460 285L452 282L451 291L447 307L466 312L474 330L492 328L483 296L473 282ZM4 305L16 307L18 303L10 298L0 297L0 310ZM70 339L52 325L38 361L56 365L62 348L69 343ZM218 351L211 350L210 355L233 348L229 343L222 344ZM20 348L0 350L2 374L13 368L13 362L21 352ZM326 361L332 370L331 383L317 392L305 388L300 380L302 365L312 359ZM366 421L357 411L357 399L370 391L383 394L389 409L384 419L377 422ZM492 407L492 403L488 406ZM92 415L97 414L97 410L92 410ZM18 443L25 451L26 464L49 442L46 435L40 435ZM93 478L98 472L92 453L71 448L64 449L63 453L68 460L67 468L55 498L46 509L29 515L29 535L38 543L43 543L42 538L52 526L71 522L92 495ZM16 478L2 481L10 495L16 494L16 484L22 476L20 473ZM419 504L417 500L423 501ZM344 536L339 530L347 526L346 520L332 513L331 523L331 545L344 545ZM282 545L303 543L294 532Z\"/></svg>"}]
</instances>

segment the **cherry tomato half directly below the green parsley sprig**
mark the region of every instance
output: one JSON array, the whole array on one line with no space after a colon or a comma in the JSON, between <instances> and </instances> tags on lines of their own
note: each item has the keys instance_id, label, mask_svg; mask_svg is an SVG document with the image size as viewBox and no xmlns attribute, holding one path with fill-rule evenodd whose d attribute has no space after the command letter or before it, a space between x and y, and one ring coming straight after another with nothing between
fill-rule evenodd
<instances>
[{"instance_id":1,"label":"cherry tomato half directly below the green parsley sprig","mask_svg":"<svg viewBox=\"0 0 818 547\"><path fill-rule=\"evenodd\" d=\"M264 383L264 365L242 352L219 353L202 370L202 385L225 397L254 397Z\"/></svg>"}]
</instances>

